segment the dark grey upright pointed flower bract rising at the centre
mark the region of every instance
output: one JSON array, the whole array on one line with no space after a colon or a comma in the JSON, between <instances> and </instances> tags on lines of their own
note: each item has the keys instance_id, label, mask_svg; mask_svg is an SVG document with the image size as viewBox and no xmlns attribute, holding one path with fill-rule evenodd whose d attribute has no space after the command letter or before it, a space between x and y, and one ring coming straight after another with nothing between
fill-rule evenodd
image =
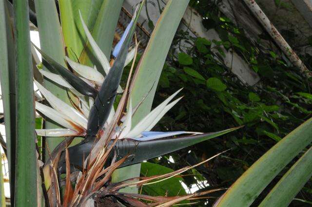
<instances>
[{"instance_id":1,"label":"dark grey upright pointed flower bract rising at the centre","mask_svg":"<svg viewBox=\"0 0 312 207\"><path fill-rule=\"evenodd\" d=\"M120 78L123 72L123 66L126 61L126 57L128 54L128 49L135 32L137 19L139 13L142 9L143 3L141 3L140 7L137 10L137 14L134 17L134 24L132 25L130 32L121 46L120 52L116 57L114 65L111 70L107 74L99 92L98 96L94 101L94 105L92 106L88 119L88 128L87 128L87 136L86 140L93 142L98 130L101 129L107 120L114 101L117 94L117 89L120 83Z\"/></svg>"}]
</instances>

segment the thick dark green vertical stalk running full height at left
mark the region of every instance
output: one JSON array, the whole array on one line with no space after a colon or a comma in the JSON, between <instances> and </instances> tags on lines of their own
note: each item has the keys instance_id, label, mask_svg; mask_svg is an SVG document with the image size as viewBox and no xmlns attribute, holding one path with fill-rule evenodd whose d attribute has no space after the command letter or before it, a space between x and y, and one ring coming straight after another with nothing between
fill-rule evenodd
<instances>
[{"instance_id":1,"label":"thick dark green vertical stalk running full height at left","mask_svg":"<svg viewBox=\"0 0 312 207\"><path fill-rule=\"evenodd\" d=\"M15 206L37 206L37 156L28 0L14 1L17 142ZM31 190L30 190L31 189Z\"/></svg>"}]
</instances>

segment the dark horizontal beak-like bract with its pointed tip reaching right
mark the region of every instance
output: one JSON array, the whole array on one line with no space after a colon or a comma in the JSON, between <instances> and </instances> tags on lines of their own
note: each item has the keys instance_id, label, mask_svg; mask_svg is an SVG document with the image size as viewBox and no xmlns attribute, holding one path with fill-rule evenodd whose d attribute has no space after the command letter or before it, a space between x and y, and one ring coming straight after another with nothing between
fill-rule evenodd
<instances>
[{"instance_id":1,"label":"dark horizontal beak-like bract with its pointed tip reaching right","mask_svg":"<svg viewBox=\"0 0 312 207\"><path fill-rule=\"evenodd\" d=\"M114 150L110 152L110 157L112 158L114 156L114 151L117 152L117 160L125 157L128 154L133 155L126 159L126 161L120 166L125 167L142 162L147 159L161 156L163 154L177 151L191 145L195 145L199 142L221 136L225 133L232 132L239 128L240 127L236 127L220 132L203 133L177 138L155 139L150 141L136 141L133 139L118 140L116 145L114 146ZM111 140L110 144L112 144L113 142L114 140ZM83 158L89 154L93 146L94 143L87 142L69 148L69 155L72 155L70 156L72 170L74 170L75 168L81 169ZM59 161L59 173L64 173L65 169L65 154L64 152L62 152Z\"/></svg>"}]
</instances>

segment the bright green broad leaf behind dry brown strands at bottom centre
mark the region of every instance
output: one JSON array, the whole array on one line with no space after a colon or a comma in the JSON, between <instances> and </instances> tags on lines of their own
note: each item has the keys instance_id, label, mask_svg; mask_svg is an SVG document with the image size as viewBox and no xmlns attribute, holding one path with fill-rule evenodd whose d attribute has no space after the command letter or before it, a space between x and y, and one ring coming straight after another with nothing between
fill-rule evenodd
<instances>
[{"instance_id":1,"label":"bright green broad leaf behind dry brown strands at bottom centre","mask_svg":"<svg viewBox=\"0 0 312 207\"><path fill-rule=\"evenodd\" d=\"M141 163L141 176L161 175L173 172L173 169L149 162ZM181 185L182 177L172 177L170 179L145 185L142 191L151 196L177 196L186 195L185 189Z\"/></svg>"}]
</instances>

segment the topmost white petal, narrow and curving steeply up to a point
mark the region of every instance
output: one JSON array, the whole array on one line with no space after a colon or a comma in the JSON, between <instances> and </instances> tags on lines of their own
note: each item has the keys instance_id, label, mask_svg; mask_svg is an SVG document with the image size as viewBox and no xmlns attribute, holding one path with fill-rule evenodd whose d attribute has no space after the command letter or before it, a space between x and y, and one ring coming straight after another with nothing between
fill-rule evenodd
<instances>
[{"instance_id":1,"label":"topmost white petal, narrow and curving steeply up to a point","mask_svg":"<svg viewBox=\"0 0 312 207\"><path fill-rule=\"evenodd\" d=\"M82 19L80 10L79 10L79 15L80 15L80 20L81 20L81 23L82 23L82 27L84 29L84 32L86 33L86 36L87 36L87 38L89 40L89 43L90 43L90 45L91 45L95 55L97 56L98 61L101 63L101 65L102 65L102 67L104 69L105 74L107 75L109 69L111 68L111 66L109 64L109 61L106 58L106 56L104 55L104 53L101 51L101 49L98 47L96 41L94 40L94 38L92 37L91 33L89 32L89 29L88 29L87 25L84 23L84 21Z\"/></svg>"}]
</instances>

